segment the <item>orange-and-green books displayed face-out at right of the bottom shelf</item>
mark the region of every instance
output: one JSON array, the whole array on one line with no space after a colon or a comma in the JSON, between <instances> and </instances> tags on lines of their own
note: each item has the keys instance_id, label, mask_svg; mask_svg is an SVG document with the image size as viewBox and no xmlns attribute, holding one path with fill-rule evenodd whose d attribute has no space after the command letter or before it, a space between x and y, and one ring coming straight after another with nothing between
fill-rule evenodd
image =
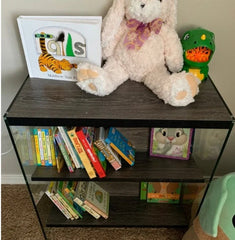
<instances>
[{"instance_id":1,"label":"orange-and-green books displayed face-out at right of the bottom shelf","mask_svg":"<svg viewBox=\"0 0 235 240\"><path fill-rule=\"evenodd\" d=\"M205 183L141 182L140 200L148 203L191 203Z\"/></svg>"}]
</instances>

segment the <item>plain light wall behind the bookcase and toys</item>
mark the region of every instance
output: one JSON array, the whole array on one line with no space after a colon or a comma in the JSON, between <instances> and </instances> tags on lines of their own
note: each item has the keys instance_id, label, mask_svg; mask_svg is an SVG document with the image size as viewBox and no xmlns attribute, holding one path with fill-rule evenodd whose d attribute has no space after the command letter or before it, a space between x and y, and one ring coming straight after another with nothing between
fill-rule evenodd
<instances>
[{"instance_id":1,"label":"plain light wall behind the bookcase and toys","mask_svg":"<svg viewBox=\"0 0 235 240\"><path fill-rule=\"evenodd\" d=\"M112 0L2 0L2 115L27 75L23 49L16 24L19 15L105 15ZM226 3L226 4L225 4ZM234 0L179 0L178 32L204 27L215 33L216 53L210 75L235 115L234 100ZM2 152L11 143L2 121ZM221 167L235 171L235 130L222 158ZM20 174L13 151L2 156L2 176ZM4 182L4 181L3 181Z\"/></svg>"}]
</instances>

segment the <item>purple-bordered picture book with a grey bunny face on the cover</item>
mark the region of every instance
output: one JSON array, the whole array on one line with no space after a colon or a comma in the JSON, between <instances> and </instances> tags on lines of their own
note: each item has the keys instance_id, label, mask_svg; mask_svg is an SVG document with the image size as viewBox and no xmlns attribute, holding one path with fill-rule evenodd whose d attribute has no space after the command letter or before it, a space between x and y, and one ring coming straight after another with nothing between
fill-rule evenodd
<instances>
[{"instance_id":1,"label":"purple-bordered picture book with a grey bunny face on the cover","mask_svg":"<svg viewBox=\"0 0 235 240\"><path fill-rule=\"evenodd\" d=\"M150 155L188 160L191 153L193 129L152 128Z\"/></svg>"}]
</instances>

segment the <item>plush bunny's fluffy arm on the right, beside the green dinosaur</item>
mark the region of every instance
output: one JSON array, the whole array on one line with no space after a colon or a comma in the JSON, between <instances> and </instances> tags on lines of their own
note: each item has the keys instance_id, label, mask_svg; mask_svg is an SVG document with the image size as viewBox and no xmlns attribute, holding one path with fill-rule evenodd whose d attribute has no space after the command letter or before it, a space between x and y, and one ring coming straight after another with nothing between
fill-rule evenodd
<instances>
[{"instance_id":1,"label":"plush bunny's fluffy arm on the right, beside the green dinosaur","mask_svg":"<svg viewBox=\"0 0 235 240\"><path fill-rule=\"evenodd\" d=\"M183 49L175 29L163 26L161 35L164 40L165 61L171 72L179 72L183 68Z\"/></svg>"}]
</instances>

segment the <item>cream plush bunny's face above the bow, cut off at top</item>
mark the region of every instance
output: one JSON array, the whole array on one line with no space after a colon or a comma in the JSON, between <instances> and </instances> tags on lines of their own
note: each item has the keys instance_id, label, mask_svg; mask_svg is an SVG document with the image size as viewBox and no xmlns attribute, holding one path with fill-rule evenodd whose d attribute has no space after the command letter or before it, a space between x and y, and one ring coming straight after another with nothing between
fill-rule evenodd
<instances>
[{"instance_id":1,"label":"cream plush bunny's face above the bow, cut off at top","mask_svg":"<svg viewBox=\"0 0 235 240\"><path fill-rule=\"evenodd\" d=\"M125 0L126 17L143 23L152 22L162 17L164 1L169 0Z\"/></svg>"}]
</instances>

